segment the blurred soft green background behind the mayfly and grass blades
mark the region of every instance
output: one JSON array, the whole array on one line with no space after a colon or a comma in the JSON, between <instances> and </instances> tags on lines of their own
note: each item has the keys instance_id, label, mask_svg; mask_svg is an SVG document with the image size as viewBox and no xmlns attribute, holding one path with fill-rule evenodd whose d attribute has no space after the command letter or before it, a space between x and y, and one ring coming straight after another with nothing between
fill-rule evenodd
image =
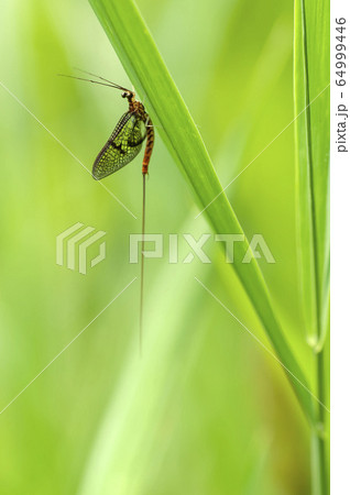
<instances>
[{"instance_id":1,"label":"blurred soft green background behind the mayfly and grass blades","mask_svg":"<svg viewBox=\"0 0 350 495\"><path fill-rule=\"evenodd\" d=\"M293 120L293 2L140 0L223 186ZM80 67L130 86L87 1L0 7L1 404L3 409L134 278L141 156L103 184L90 170L125 101L57 77ZM143 95L139 96L144 100ZM317 105L317 102L315 102ZM260 260L287 339L309 376L295 255L291 125L227 189ZM190 136L189 136L190 139ZM156 136L146 230L210 232ZM76 222L107 232L87 275L57 266L56 235ZM218 243L211 264L146 261L139 354L139 279L0 415L3 494L309 493L308 428L260 322ZM90 249L90 258L98 246ZM181 260L188 249L179 240Z\"/></svg>"}]
</instances>

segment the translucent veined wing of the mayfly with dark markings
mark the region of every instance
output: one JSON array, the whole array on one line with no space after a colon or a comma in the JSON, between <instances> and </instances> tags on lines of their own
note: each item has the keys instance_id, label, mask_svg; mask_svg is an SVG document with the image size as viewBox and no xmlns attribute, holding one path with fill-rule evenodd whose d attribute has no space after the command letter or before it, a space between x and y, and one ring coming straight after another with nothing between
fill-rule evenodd
<instances>
[{"instance_id":1,"label":"translucent veined wing of the mayfly with dark markings","mask_svg":"<svg viewBox=\"0 0 350 495\"><path fill-rule=\"evenodd\" d=\"M128 165L140 152L145 136L146 128L140 117L132 112L124 113L98 154L92 177L99 180Z\"/></svg>"}]
</instances>

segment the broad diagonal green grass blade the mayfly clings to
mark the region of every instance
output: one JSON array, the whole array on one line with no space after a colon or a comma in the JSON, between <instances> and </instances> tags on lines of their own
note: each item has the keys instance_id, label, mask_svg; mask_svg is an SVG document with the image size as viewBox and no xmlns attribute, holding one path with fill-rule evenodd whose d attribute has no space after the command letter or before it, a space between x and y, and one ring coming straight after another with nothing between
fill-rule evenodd
<instances>
[{"instance_id":1,"label":"broad diagonal green grass blade the mayfly clings to","mask_svg":"<svg viewBox=\"0 0 350 495\"><path fill-rule=\"evenodd\" d=\"M182 99L155 43L132 1L90 0L90 3L114 47L139 95L146 95L146 107L164 143L192 186L200 208L214 230L221 234L243 233L216 175L200 134ZM222 96L218 96L222 97ZM152 172L152 163L150 166ZM256 261L242 264L249 249L247 241L238 243L234 253L237 271L269 338L283 364L297 380L291 377L307 418L314 421L314 407L293 352L276 320L269 289Z\"/></svg>"}]
</instances>

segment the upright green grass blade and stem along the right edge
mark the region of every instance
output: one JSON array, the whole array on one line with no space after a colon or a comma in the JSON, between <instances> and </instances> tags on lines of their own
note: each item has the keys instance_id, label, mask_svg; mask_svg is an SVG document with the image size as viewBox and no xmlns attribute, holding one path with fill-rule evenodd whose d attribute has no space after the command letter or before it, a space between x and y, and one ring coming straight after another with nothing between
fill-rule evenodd
<instances>
[{"instance_id":1,"label":"upright green grass blade and stem along the right edge","mask_svg":"<svg viewBox=\"0 0 350 495\"><path fill-rule=\"evenodd\" d=\"M295 1L294 97L300 295L305 332L315 351L316 394L328 404L329 308L329 2ZM316 42L317 40L317 42ZM325 409L311 432L313 494L329 493Z\"/></svg>"}]
</instances>

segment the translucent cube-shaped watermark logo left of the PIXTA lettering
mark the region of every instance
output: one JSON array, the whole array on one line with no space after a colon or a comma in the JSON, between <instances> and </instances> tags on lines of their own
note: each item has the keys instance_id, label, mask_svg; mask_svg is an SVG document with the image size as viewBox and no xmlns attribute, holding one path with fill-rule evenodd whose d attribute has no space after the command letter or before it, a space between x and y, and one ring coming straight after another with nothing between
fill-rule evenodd
<instances>
[{"instance_id":1,"label":"translucent cube-shaped watermark logo left of the PIXTA lettering","mask_svg":"<svg viewBox=\"0 0 350 495\"><path fill-rule=\"evenodd\" d=\"M81 229L83 227L84 223L77 222L56 237L56 264L64 266L64 260L66 258L67 268L78 270L79 273L86 275L88 249L103 238L106 232L99 230L90 235L96 229L94 227ZM90 261L90 267L96 266L105 257L106 242L103 241L99 243L99 253Z\"/></svg>"}]
</instances>

